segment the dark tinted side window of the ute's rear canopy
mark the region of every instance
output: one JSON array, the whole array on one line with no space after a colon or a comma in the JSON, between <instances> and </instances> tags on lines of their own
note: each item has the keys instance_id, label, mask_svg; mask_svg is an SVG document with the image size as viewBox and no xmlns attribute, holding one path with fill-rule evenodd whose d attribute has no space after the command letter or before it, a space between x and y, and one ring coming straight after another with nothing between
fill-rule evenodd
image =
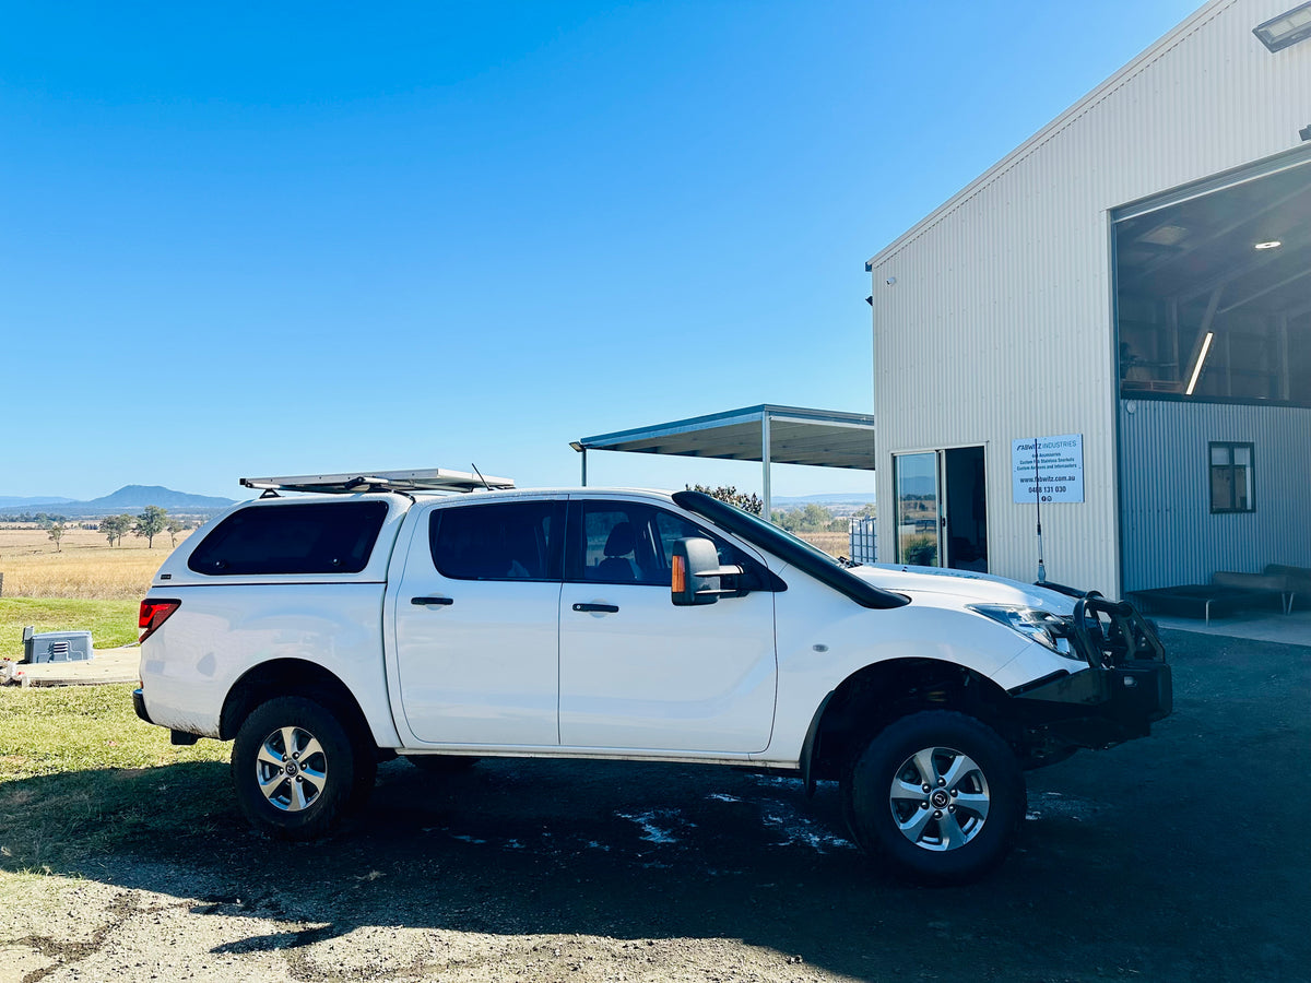
<instances>
[{"instance_id":1,"label":"dark tinted side window of the ute's rear canopy","mask_svg":"<svg viewBox=\"0 0 1311 983\"><path fill-rule=\"evenodd\" d=\"M205 537L187 566L197 573L359 573L387 519L385 502L324 502L243 509Z\"/></svg>"}]
</instances>

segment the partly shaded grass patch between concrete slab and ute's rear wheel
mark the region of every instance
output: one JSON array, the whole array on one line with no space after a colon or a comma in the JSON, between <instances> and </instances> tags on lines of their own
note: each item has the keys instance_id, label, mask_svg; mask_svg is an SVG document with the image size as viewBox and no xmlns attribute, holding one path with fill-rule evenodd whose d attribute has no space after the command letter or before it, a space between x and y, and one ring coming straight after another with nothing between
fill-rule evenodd
<instances>
[{"instance_id":1,"label":"partly shaded grass patch between concrete slab and ute's rear wheel","mask_svg":"<svg viewBox=\"0 0 1311 983\"><path fill-rule=\"evenodd\" d=\"M231 800L231 746L173 747L166 730L136 718L131 691L0 689L0 870L66 868L169 843L180 830L184 839L216 832Z\"/></svg>"}]
</instances>

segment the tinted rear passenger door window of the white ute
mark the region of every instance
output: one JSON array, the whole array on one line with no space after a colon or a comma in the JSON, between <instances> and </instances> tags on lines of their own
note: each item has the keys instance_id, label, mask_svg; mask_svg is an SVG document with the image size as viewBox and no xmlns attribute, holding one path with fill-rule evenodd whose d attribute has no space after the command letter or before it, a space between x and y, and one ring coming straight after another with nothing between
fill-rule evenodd
<instances>
[{"instance_id":1,"label":"tinted rear passenger door window of the white ute","mask_svg":"<svg viewBox=\"0 0 1311 983\"><path fill-rule=\"evenodd\" d=\"M564 519L562 501L437 509L433 565L459 581L558 581Z\"/></svg>"}]
</instances>

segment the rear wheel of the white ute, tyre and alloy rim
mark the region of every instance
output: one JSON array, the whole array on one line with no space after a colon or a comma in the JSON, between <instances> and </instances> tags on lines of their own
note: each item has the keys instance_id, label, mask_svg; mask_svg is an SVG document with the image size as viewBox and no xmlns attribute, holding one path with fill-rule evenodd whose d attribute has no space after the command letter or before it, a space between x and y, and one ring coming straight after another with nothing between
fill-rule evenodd
<instances>
[{"instance_id":1,"label":"rear wheel of the white ute, tyre and alloy rim","mask_svg":"<svg viewBox=\"0 0 1311 983\"><path fill-rule=\"evenodd\" d=\"M281 696L260 704L232 744L232 782L243 815L288 840L332 831L368 796L376 761L337 716L313 700Z\"/></svg>"}]
</instances>

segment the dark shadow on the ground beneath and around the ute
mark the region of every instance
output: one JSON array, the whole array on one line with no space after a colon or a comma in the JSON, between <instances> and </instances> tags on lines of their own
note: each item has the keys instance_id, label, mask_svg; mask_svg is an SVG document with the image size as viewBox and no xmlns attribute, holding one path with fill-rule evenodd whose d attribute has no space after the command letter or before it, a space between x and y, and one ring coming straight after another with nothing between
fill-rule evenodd
<instances>
[{"instance_id":1,"label":"dark shadow on the ground beneath and around the ute","mask_svg":"<svg viewBox=\"0 0 1311 983\"><path fill-rule=\"evenodd\" d=\"M256 919L214 952L300 952L308 975L319 944L402 927L742 940L861 979L1298 979L1311 949L1289 915L1311 907L1311 852L1291 817L1311 794L1301 776L1276 782L1277 809L1257 793L1308 746L1311 649L1230 641L1176 642L1176 714L1152 739L1030 773L1019 849L966 887L888 878L847 840L831 784L808 801L793 779L549 760L388 763L363 813L313 844L250 832L223 765L176 767L169 798L198 822L127 830L62 869ZM123 784L159 797L157 773Z\"/></svg>"}]
</instances>

